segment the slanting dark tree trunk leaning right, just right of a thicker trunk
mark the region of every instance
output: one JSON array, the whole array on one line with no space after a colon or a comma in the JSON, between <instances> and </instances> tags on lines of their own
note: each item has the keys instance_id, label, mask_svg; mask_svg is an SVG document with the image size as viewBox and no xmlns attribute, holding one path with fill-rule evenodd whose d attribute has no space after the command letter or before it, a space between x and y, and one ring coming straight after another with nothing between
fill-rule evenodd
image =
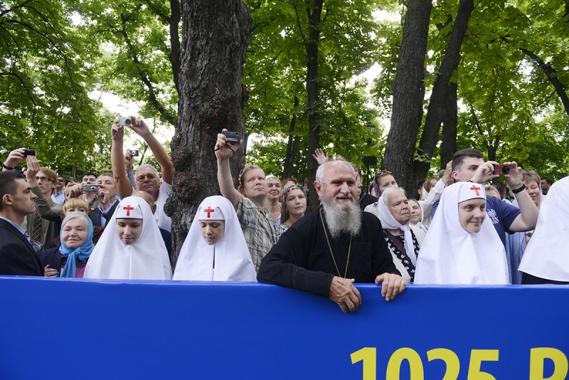
<instances>
[{"instance_id":1,"label":"slanting dark tree trunk leaning right, just right of a thicker trunk","mask_svg":"<svg viewBox=\"0 0 569 380\"><path fill-rule=\"evenodd\" d=\"M415 174L413 183L415 184L421 179L425 179L430 169L430 159L439 141L440 125L445 120L457 120L457 117L450 115L451 112L457 112L456 103L453 105L449 102L452 99L452 91L456 88L456 86L452 85L451 77L460 63L460 47L467 32L468 21L473 10L474 0L460 1L457 18L450 33L449 45L447 46L447 51L445 51L445 56L442 58L439 73L432 88L427 117L425 117L425 127L423 127L419 142L419 153L423 159L413 162ZM456 130L456 125L454 127L449 125L448 127Z\"/></svg>"}]
</instances>

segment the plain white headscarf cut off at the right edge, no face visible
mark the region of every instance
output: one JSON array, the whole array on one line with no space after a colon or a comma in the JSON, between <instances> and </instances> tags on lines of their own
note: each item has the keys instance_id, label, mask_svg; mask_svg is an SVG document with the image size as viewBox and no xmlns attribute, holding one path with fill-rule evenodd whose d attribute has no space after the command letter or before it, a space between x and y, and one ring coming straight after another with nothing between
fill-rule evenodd
<instances>
[{"instance_id":1,"label":"plain white headscarf cut off at the right edge, no face visible","mask_svg":"<svg viewBox=\"0 0 569 380\"><path fill-rule=\"evenodd\" d=\"M569 281L569 176L551 185L541 198L536 230L519 270L539 278Z\"/></svg>"}]
</instances>

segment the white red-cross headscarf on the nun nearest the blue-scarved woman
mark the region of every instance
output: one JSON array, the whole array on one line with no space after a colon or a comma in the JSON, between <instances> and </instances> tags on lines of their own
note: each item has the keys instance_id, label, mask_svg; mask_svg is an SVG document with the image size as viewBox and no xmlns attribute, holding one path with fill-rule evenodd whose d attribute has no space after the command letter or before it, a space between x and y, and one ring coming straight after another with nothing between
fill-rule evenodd
<instances>
[{"instance_id":1,"label":"white red-cross headscarf on the nun nearest the blue-scarved woman","mask_svg":"<svg viewBox=\"0 0 569 380\"><path fill-rule=\"evenodd\" d=\"M137 241L125 245L115 226L117 218L142 219ZM83 278L171 280L168 251L150 206L138 196L122 199L91 253Z\"/></svg>"}]
</instances>

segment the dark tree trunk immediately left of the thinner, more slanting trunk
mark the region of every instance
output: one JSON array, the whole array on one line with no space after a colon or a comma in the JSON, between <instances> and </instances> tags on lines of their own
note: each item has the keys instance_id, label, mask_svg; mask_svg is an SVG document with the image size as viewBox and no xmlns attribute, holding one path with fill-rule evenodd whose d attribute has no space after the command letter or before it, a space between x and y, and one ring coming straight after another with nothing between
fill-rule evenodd
<instances>
[{"instance_id":1,"label":"dark tree trunk immediately left of the thinner, more slanting trunk","mask_svg":"<svg viewBox=\"0 0 569 380\"><path fill-rule=\"evenodd\" d=\"M403 41L393 82L393 112L383 167L395 173L398 184L413 191L413 154L422 121L425 56L432 3L410 0L403 25ZM310 153L310 152L309 152Z\"/></svg>"}]
</instances>

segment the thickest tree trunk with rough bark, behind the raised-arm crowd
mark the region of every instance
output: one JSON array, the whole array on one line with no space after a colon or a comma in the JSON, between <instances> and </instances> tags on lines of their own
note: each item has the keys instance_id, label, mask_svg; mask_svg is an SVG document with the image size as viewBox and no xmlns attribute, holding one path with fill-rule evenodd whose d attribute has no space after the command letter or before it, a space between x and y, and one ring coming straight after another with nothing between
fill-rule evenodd
<instances>
[{"instance_id":1,"label":"thickest tree trunk with rough bark, behind the raised-arm crowd","mask_svg":"<svg viewBox=\"0 0 569 380\"><path fill-rule=\"evenodd\" d=\"M174 186L166 204L172 218L174 262L197 206L220 194L213 147L223 128L243 136L241 75L251 30L243 0L182 2L179 121L171 141ZM243 152L231 159L237 178Z\"/></svg>"}]
</instances>

